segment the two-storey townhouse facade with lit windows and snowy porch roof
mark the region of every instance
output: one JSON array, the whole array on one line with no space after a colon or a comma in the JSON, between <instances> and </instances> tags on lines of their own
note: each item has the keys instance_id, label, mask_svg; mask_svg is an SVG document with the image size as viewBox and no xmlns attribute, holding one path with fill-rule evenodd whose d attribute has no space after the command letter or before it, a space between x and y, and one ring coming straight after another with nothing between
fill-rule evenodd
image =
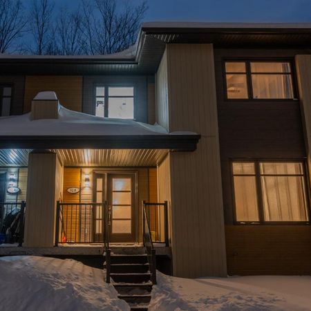
<instances>
[{"instance_id":1,"label":"two-storey townhouse facade with lit windows and snowy porch roof","mask_svg":"<svg viewBox=\"0 0 311 311\"><path fill-rule=\"evenodd\" d=\"M23 247L102 243L104 201L111 243L141 243L144 201L173 275L310 274L310 38L144 23L116 55L1 55L0 205L26 200Z\"/></svg>"}]
</instances>

